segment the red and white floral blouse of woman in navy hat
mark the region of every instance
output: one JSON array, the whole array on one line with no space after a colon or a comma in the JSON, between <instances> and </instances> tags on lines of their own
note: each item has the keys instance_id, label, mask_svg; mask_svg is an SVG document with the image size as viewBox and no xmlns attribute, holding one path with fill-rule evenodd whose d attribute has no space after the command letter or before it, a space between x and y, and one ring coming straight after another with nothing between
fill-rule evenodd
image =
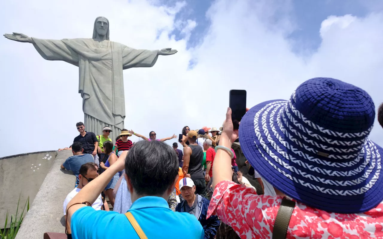
<instances>
[{"instance_id":1,"label":"red and white floral blouse of woman in navy hat","mask_svg":"<svg viewBox=\"0 0 383 239\"><path fill-rule=\"evenodd\" d=\"M252 188L222 181L214 190L207 217L217 215L243 239L272 238L281 202L281 196L257 195ZM286 238L383 238L382 228L383 202L358 214L328 213L296 202Z\"/></svg>"}]
</instances>

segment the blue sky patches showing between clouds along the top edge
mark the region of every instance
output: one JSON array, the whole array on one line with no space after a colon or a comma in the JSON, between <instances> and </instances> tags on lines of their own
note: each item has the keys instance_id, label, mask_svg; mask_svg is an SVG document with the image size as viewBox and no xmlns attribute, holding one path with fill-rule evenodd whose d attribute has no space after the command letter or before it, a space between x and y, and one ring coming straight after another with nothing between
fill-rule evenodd
<instances>
[{"instance_id":1,"label":"blue sky patches showing between clouds along the top edge","mask_svg":"<svg viewBox=\"0 0 383 239\"><path fill-rule=\"evenodd\" d=\"M167 5L173 4L177 1L169 0L161 3ZM187 7L179 11L175 16L178 19L190 18L197 22L197 26L191 34L188 41L188 47L195 47L201 42L201 38L204 37L206 31L210 26L210 21L206 17L206 11L209 10L211 4L214 1L211 0L187 0ZM295 0L295 1L272 1L291 3L289 15L291 20L295 24L295 30L291 32L288 38L295 42L298 42L293 46L293 50L299 53L302 49L313 51L318 49L321 44L321 38L319 36L319 29L321 23L327 16L343 16L351 14L357 17L365 17L372 11L381 11L383 8L383 1L380 0ZM275 16L278 18L278 16ZM177 39L182 38L182 34L178 29L171 32L175 34Z\"/></svg>"}]
</instances>

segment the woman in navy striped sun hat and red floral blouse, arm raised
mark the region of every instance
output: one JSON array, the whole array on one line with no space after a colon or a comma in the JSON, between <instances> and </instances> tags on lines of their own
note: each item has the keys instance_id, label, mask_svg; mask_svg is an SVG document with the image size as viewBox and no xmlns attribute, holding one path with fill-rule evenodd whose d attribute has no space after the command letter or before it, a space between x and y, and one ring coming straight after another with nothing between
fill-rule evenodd
<instances>
[{"instance_id":1,"label":"woman in navy striped sun hat and red floral blouse, arm raised","mask_svg":"<svg viewBox=\"0 0 383 239\"><path fill-rule=\"evenodd\" d=\"M374 119L367 92L332 78L305 81L288 101L252 107L239 131L228 109L208 216L217 215L241 238L272 238L273 232L278 238L383 238L383 149L367 138ZM246 159L277 196L231 182L230 147L238 135ZM280 208L291 209L287 221Z\"/></svg>"}]
</instances>

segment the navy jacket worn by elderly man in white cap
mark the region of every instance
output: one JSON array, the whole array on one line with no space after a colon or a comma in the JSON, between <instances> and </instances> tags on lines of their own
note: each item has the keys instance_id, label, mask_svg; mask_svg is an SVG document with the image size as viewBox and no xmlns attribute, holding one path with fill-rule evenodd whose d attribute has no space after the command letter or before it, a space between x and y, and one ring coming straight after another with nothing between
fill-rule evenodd
<instances>
[{"instance_id":1,"label":"navy jacket worn by elderly man in white cap","mask_svg":"<svg viewBox=\"0 0 383 239\"><path fill-rule=\"evenodd\" d=\"M217 229L219 227L219 224L221 224L221 221L219 221L218 216L212 215L209 219L206 219L206 214L208 213L208 207L210 201L201 195L196 194L196 200L197 200L197 208L196 208L196 218L201 223L203 230L205 231L204 239L213 239L214 236L217 234ZM180 213L185 212L185 205L186 200L183 200L182 202L178 203L177 207L175 208L175 211L178 211ZM187 211L188 213L188 211Z\"/></svg>"}]
</instances>

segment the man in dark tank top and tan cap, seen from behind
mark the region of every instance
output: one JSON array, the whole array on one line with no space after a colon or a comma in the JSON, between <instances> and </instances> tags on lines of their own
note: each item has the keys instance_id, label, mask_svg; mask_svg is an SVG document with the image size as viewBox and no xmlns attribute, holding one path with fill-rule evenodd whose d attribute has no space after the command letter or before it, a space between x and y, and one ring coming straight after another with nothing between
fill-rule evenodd
<instances>
[{"instance_id":1,"label":"man in dark tank top and tan cap, seen from behind","mask_svg":"<svg viewBox=\"0 0 383 239\"><path fill-rule=\"evenodd\" d=\"M189 145L183 148L182 172L190 174L196 187L196 193L206 197L208 191L202 169L203 151L201 146L196 143L197 135L194 130L188 133Z\"/></svg>"}]
</instances>

